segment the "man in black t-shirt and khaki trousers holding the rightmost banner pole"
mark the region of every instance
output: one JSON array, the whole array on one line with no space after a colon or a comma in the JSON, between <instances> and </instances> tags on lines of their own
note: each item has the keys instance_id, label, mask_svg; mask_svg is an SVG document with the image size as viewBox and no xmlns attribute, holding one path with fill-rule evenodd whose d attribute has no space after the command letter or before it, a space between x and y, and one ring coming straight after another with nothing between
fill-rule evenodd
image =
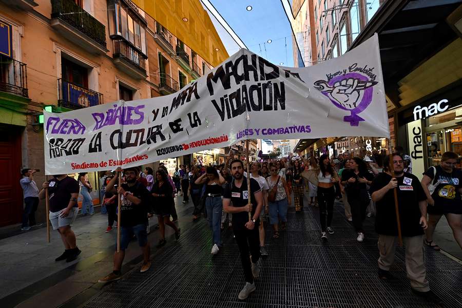
<instances>
[{"instance_id":1,"label":"man in black t-shirt and khaki trousers holding the rightmost banner pole","mask_svg":"<svg viewBox=\"0 0 462 308\"><path fill-rule=\"evenodd\" d=\"M390 157L386 157L383 164L384 172L374 179L370 189L372 200L376 202L377 207L375 228L379 234L379 278L394 279L389 271L394 261L398 235L393 192L396 188L401 234L406 248L407 276L412 291L430 302L440 303L441 300L430 291L422 249L424 229L427 228L427 196L417 177L403 172L401 155L393 155L394 178L389 170L389 162Z\"/></svg>"}]
</instances>

